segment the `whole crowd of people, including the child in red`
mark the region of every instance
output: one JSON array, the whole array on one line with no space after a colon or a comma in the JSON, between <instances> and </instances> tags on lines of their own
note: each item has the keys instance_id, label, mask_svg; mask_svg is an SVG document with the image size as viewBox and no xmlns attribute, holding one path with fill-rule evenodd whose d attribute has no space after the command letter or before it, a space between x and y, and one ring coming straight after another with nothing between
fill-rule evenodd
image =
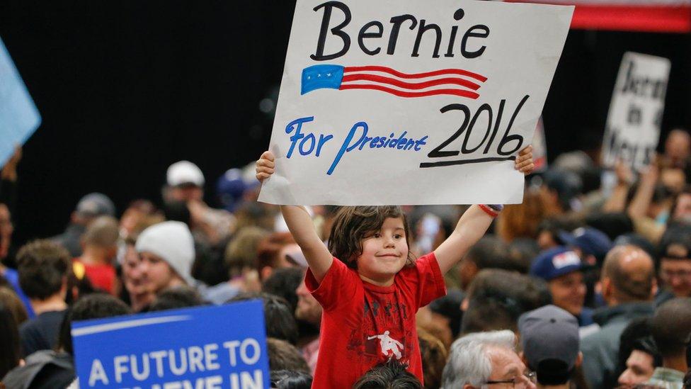
<instances>
[{"instance_id":1,"label":"whole crowd of people, including the child in red","mask_svg":"<svg viewBox=\"0 0 691 389\"><path fill-rule=\"evenodd\" d=\"M691 135L663 146L639 171L561 154L506 206L280 208L268 154L215 185L181 161L161 199L89 193L16 247L18 149L0 387L78 388L73 321L260 299L274 388L691 388Z\"/></svg>"}]
</instances>

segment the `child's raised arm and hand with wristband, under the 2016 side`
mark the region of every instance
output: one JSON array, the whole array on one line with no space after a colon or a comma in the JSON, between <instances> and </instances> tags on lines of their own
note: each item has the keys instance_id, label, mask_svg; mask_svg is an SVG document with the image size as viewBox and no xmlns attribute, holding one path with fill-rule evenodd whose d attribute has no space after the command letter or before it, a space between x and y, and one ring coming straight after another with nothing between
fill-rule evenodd
<instances>
[{"instance_id":1,"label":"child's raised arm and hand with wristband, under the 2016 side","mask_svg":"<svg viewBox=\"0 0 691 389\"><path fill-rule=\"evenodd\" d=\"M532 161L532 146L525 147L518 153L515 169L523 174L530 174L535 169ZM486 205L484 205L486 207ZM455 230L442 244L434 250L442 274L451 269L468 252L480 238L485 235L487 228L494 219L491 208L483 210L480 205L473 205L458 220Z\"/></svg>"}]
</instances>

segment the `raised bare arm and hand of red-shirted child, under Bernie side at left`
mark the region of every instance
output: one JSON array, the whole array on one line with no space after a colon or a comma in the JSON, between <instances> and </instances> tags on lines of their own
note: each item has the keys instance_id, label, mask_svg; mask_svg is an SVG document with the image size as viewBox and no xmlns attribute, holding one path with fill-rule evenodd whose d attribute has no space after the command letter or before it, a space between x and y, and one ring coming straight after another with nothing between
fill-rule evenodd
<instances>
[{"instance_id":1,"label":"raised bare arm and hand of red-shirted child, under Bernie side at left","mask_svg":"<svg viewBox=\"0 0 691 389\"><path fill-rule=\"evenodd\" d=\"M270 151L265 151L261 154L256 164L257 179L264 181L268 179L274 171L274 157ZM312 218L307 213L307 210L300 205L281 205L281 213L285 219L285 224L288 225L288 230L295 238L295 242L302 249L304 258L307 259L309 269L316 281L321 283L321 280L326 276L326 271L329 271L333 256L324 242L321 242L319 235L316 233Z\"/></svg>"}]
</instances>

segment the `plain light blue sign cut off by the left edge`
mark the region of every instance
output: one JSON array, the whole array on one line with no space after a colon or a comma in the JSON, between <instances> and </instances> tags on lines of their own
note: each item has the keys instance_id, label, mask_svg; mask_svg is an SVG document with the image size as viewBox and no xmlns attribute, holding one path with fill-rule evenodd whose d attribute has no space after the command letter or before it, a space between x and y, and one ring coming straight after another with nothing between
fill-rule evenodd
<instances>
[{"instance_id":1,"label":"plain light blue sign cut off by the left edge","mask_svg":"<svg viewBox=\"0 0 691 389\"><path fill-rule=\"evenodd\" d=\"M41 115L0 39L0 167L40 124Z\"/></svg>"}]
</instances>

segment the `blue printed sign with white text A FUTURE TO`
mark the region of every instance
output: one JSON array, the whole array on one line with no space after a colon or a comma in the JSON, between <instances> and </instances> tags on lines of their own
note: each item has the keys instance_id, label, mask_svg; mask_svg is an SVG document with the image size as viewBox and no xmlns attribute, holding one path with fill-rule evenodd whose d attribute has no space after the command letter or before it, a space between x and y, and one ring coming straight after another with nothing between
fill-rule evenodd
<instances>
[{"instance_id":1,"label":"blue printed sign with white text A FUTURE TO","mask_svg":"<svg viewBox=\"0 0 691 389\"><path fill-rule=\"evenodd\" d=\"M261 300L72 323L80 388L269 388Z\"/></svg>"}]
</instances>

